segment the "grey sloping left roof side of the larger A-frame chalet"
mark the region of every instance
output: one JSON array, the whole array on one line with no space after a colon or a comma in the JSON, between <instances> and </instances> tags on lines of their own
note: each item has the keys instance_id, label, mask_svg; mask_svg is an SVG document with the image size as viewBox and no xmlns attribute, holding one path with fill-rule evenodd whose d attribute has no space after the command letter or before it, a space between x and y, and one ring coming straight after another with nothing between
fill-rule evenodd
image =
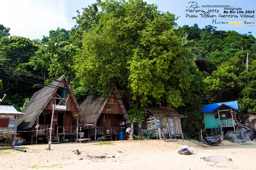
<instances>
[{"instance_id":1,"label":"grey sloping left roof side of the larger A-frame chalet","mask_svg":"<svg viewBox=\"0 0 256 170\"><path fill-rule=\"evenodd\" d=\"M62 81L65 75L58 78L58 81ZM17 129L24 130L31 127L32 123L38 117L38 115L42 112L45 105L50 100L51 96L57 90L61 82L53 81L48 86L42 88L41 90L34 93L34 95L29 100L28 104L22 111L25 115L21 115L17 120Z\"/></svg>"}]
</instances>

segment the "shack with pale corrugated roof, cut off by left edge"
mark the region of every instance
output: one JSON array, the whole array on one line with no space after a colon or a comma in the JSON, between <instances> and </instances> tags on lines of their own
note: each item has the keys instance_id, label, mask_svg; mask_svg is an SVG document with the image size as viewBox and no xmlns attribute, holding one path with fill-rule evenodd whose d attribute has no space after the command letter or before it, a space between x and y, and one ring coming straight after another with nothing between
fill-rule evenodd
<instances>
[{"instance_id":1,"label":"shack with pale corrugated roof, cut off by left edge","mask_svg":"<svg viewBox=\"0 0 256 170\"><path fill-rule=\"evenodd\" d=\"M20 115L24 115L24 113L18 112L13 106L0 105L0 145L1 143L5 143L5 139L1 135L4 132L14 134L15 139L17 131L17 117Z\"/></svg>"}]
</instances>

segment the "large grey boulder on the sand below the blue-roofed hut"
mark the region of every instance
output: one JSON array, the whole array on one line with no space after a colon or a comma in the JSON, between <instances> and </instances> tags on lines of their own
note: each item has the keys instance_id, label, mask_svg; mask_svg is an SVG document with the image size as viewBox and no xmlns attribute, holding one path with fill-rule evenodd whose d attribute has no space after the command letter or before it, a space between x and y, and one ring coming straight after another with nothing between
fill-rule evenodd
<instances>
[{"instance_id":1,"label":"large grey boulder on the sand below the blue-roofed hut","mask_svg":"<svg viewBox=\"0 0 256 170\"><path fill-rule=\"evenodd\" d=\"M228 131L224 135L224 140L229 140L235 142L236 132L234 130ZM255 134L250 128L241 128L237 131L236 143L245 143L245 142L256 142Z\"/></svg>"}]
</instances>

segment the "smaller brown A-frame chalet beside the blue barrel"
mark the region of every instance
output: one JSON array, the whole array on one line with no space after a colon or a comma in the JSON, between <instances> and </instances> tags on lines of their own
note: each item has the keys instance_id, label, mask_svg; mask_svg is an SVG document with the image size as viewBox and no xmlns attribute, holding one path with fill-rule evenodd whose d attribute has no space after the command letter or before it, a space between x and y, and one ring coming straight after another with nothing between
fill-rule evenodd
<instances>
[{"instance_id":1,"label":"smaller brown A-frame chalet beside the blue barrel","mask_svg":"<svg viewBox=\"0 0 256 170\"><path fill-rule=\"evenodd\" d=\"M108 97L87 96L79 101L79 106L89 126L88 138L105 136L117 140L119 132L125 132L127 112L115 85Z\"/></svg>"}]
</instances>

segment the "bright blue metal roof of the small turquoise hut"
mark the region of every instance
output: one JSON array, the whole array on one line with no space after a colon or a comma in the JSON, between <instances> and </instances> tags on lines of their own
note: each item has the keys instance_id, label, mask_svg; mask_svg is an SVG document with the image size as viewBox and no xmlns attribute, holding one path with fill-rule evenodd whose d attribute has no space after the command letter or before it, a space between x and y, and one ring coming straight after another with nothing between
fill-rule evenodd
<instances>
[{"instance_id":1,"label":"bright blue metal roof of the small turquoise hut","mask_svg":"<svg viewBox=\"0 0 256 170\"><path fill-rule=\"evenodd\" d=\"M221 106L222 104L225 104L233 109L238 110L238 103L236 100L236 101L228 101L228 102L222 102L222 103L204 104L200 113L213 113L213 111L219 106Z\"/></svg>"}]
</instances>

